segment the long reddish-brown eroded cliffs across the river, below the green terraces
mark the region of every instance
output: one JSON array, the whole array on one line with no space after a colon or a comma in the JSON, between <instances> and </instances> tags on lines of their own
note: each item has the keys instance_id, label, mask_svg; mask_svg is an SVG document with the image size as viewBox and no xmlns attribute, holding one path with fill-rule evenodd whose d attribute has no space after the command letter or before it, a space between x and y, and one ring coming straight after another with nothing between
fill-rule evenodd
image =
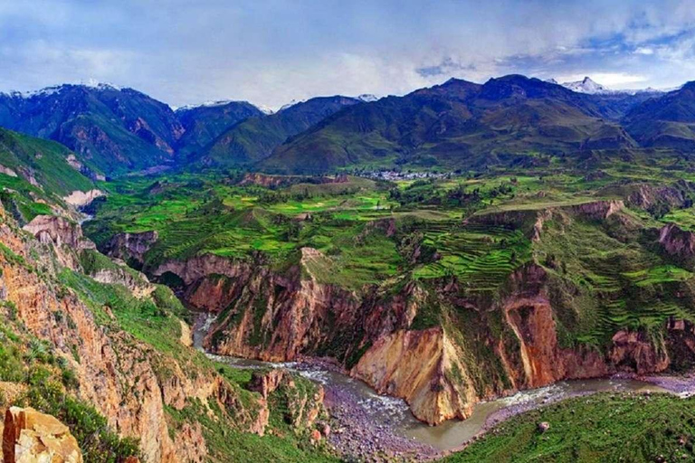
<instances>
[{"instance_id":1,"label":"long reddish-brown eroded cliffs across the river, below the green terraces","mask_svg":"<svg viewBox=\"0 0 695 463\"><path fill-rule=\"evenodd\" d=\"M623 210L623 202L597 201L472 220L528 226L529 237L542 241L550 219L561 227L578 220L627 230L633 219ZM481 298L456 279L361 291L321 283L309 262L317 252L303 249L281 273L214 255L167 261L152 273L176 275L192 306L218 314L205 338L213 352L271 361L332 356L433 424L469 416L482 399L565 379L661 372L673 363L670 352L693 352L690 334L671 335L678 320L664 321L662 334L619 328L603 345L563 342L556 283L534 261L511 272L494 298ZM432 319L432 311L440 315Z\"/></svg>"}]
</instances>

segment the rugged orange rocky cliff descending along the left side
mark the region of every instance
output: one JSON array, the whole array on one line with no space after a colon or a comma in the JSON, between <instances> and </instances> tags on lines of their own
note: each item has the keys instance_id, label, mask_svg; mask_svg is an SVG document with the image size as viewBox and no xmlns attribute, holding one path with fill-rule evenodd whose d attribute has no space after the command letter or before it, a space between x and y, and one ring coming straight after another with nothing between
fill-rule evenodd
<instances>
[{"instance_id":1,"label":"rugged orange rocky cliff descending along the left side","mask_svg":"<svg viewBox=\"0 0 695 463\"><path fill-rule=\"evenodd\" d=\"M11 321L6 329L17 324L26 335L49 346L61 368L73 372L65 373L74 381L66 383L69 386L61 393L92 404L109 429L137 440L143 461L206 460L209 451L201 425L186 420L174 426L170 418L192 403L203 408L200 413L221 413L233 423L233 430L265 432L270 415L267 398L224 380L205 356L189 346L189 339L179 344L186 324L162 305L162 300L174 298L168 289L155 288L144 275L93 250L76 223L37 217L25 227L35 238L31 239L2 208L0 215L0 317ZM86 268L95 279L83 276ZM104 291L112 296L100 297ZM123 311L134 304L157 309L151 320L140 323L150 325L159 319L157 323L173 327L171 333L129 327ZM290 379L282 384L293 387ZM5 392L21 392L24 383L2 385L5 399L33 403L27 397L35 384L28 392L13 395ZM319 394L294 405L304 425L319 413L321 399Z\"/></svg>"}]
</instances>

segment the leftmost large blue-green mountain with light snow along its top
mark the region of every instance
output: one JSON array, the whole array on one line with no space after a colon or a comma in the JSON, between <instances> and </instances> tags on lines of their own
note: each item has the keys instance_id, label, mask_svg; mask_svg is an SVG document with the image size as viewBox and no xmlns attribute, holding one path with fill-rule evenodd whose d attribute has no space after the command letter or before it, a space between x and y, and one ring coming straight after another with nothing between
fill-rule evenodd
<instances>
[{"instance_id":1,"label":"leftmost large blue-green mountain with light snow along its top","mask_svg":"<svg viewBox=\"0 0 695 463\"><path fill-rule=\"evenodd\" d=\"M107 175L173 164L184 133L166 104L105 84L0 94L0 126L59 141Z\"/></svg>"}]
</instances>

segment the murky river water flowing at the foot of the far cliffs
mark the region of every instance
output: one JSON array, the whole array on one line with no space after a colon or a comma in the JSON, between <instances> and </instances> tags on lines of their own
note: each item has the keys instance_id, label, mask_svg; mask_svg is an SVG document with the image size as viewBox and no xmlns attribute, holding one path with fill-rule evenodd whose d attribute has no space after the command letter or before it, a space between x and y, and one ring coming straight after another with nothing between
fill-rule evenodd
<instances>
[{"instance_id":1,"label":"murky river water flowing at the foot of the far cliffs","mask_svg":"<svg viewBox=\"0 0 695 463\"><path fill-rule=\"evenodd\" d=\"M201 348L203 337L212 319L208 316L196 324L194 342ZM504 420L510 415L534 409L544 403L556 402L566 397L593 392L668 392L654 385L631 379L592 379L555 383L547 387L517 392L489 402L478 403L467 420L448 420L439 426L429 426L416 420L408 405L401 399L377 394L366 383L335 371L328 364L306 362L268 363L257 360L208 354L215 361L230 364L237 368L287 368L302 376L321 383L326 390L327 405L337 410L333 413L350 414L346 408L357 407L357 414L367 418L367 426L381 432L392 432L400 438L416 441L434 449L448 450L462 446L463 443L480 433L494 422ZM361 409L361 410L359 410ZM355 415L353 412L352 415Z\"/></svg>"}]
</instances>

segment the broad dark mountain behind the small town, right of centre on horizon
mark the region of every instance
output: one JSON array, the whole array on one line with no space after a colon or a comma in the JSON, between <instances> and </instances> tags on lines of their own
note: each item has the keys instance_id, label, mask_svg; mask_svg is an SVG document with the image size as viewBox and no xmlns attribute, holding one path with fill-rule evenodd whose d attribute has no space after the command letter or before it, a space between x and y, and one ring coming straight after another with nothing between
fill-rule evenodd
<instances>
[{"instance_id":1,"label":"broad dark mountain behind the small town, right of centre on horizon","mask_svg":"<svg viewBox=\"0 0 695 463\"><path fill-rule=\"evenodd\" d=\"M276 148L259 168L313 173L350 165L480 167L534 152L636 146L610 120L621 115L611 101L524 76L484 85L449 80L344 109Z\"/></svg>"}]
</instances>

